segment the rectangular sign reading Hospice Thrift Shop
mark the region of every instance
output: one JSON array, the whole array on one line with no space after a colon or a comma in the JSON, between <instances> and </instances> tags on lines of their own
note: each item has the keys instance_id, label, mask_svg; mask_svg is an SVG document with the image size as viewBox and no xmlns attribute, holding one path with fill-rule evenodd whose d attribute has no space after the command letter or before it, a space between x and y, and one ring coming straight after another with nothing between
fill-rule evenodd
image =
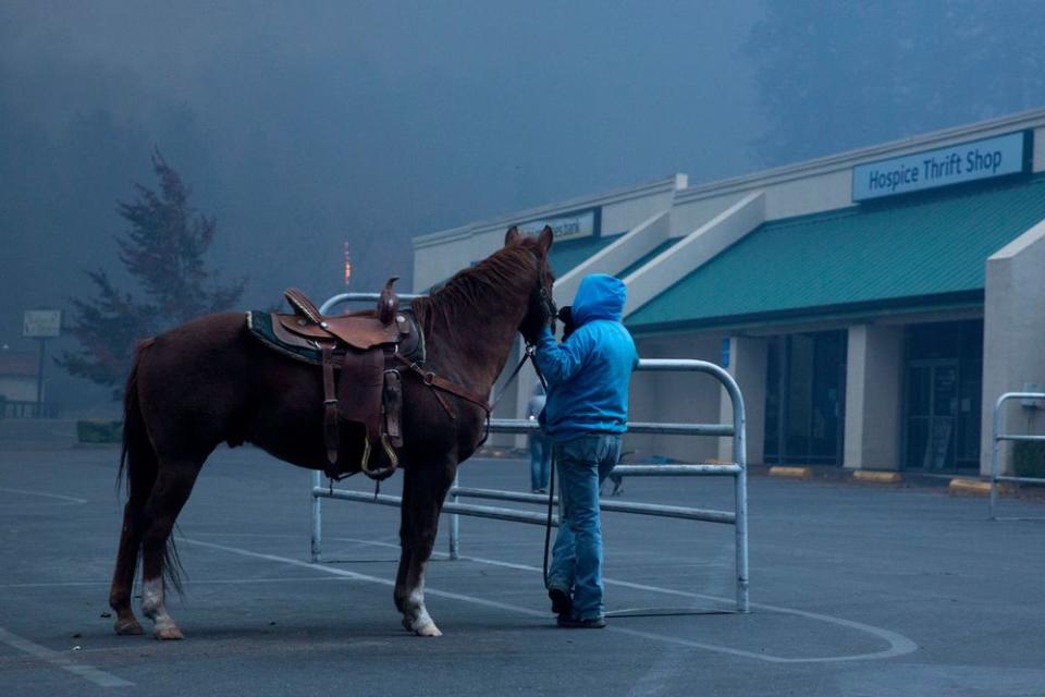
<instances>
[{"instance_id":1,"label":"rectangular sign reading Hospice Thrift Shop","mask_svg":"<svg viewBox=\"0 0 1045 697\"><path fill-rule=\"evenodd\" d=\"M1031 133L1021 131L852 168L852 200L975 182L1031 169Z\"/></svg>"}]
</instances>

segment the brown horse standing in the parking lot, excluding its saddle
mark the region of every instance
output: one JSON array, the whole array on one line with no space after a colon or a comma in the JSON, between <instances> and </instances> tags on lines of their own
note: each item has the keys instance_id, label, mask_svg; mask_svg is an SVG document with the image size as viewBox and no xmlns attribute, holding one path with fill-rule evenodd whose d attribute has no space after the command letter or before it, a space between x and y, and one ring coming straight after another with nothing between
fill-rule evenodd
<instances>
[{"instance_id":1,"label":"brown horse standing in the parking lot, excluding its saddle","mask_svg":"<svg viewBox=\"0 0 1045 697\"><path fill-rule=\"evenodd\" d=\"M532 340L553 321L551 245L550 228L537 237L513 228L504 247L414 301L428 347L426 370L489 394L516 332ZM142 611L157 638L182 638L163 591L168 582L177 586L171 530L204 461L222 442L250 442L288 463L323 469L322 402L320 369L263 346L241 313L208 315L139 345L124 398L127 502L109 594L118 634L143 633L131 608L140 551ZM437 396L415 374L403 376L398 455L405 480L394 598L403 625L421 636L441 634L425 608L425 565L457 465L479 445L485 416L466 400Z\"/></svg>"}]
</instances>

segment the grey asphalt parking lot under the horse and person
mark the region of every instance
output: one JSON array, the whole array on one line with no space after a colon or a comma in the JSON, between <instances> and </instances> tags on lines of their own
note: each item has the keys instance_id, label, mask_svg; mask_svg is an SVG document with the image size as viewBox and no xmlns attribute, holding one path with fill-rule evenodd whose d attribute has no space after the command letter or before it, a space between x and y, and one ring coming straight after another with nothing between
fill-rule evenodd
<instances>
[{"instance_id":1,"label":"grey asphalt parking lot under the horse and person","mask_svg":"<svg viewBox=\"0 0 1045 697\"><path fill-rule=\"evenodd\" d=\"M392 603L397 511L324 501L310 564L308 473L222 449L180 518L186 639L159 643L104 616L118 458L0 449L3 695L1045 694L1045 522L941 488L752 477L750 614L730 526L606 514L599 632L555 627L543 528L463 518L452 562L444 517L427 597L445 636L422 639ZM527 467L475 460L462 481L524 490ZM628 479L623 500L732 510L732 484Z\"/></svg>"}]
</instances>

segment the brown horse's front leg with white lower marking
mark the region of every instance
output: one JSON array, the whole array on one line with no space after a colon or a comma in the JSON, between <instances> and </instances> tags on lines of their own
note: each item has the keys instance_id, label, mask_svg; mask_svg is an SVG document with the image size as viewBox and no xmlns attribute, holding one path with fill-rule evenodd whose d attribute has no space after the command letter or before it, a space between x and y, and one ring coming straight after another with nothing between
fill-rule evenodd
<instances>
[{"instance_id":1,"label":"brown horse's front leg with white lower marking","mask_svg":"<svg viewBox=\"0 0 1045 697\"><path fill-rule=\"evenodd\" d=\"M395 607L403 613L403 626L418 636L442 635L425 607L425 567L455 469L454 463L428 462L411 464L405 472Z\"/></svg>"}]
</instances>

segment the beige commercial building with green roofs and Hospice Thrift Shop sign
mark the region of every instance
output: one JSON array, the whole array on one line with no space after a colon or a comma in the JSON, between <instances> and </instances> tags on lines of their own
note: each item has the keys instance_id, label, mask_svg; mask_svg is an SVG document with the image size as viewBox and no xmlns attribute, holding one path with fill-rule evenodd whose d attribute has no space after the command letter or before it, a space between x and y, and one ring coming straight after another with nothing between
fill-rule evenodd
<instances>
[{"instance_id":1,"label":"beige commercial building with green roofs and Hospice Thrift Shop sign","mask_svg":"<svg viewBox=\"0 0 1045 697\"><path fill-rule=\"evenodd\" d=\"M752 463L985 473L995 400L1045 384L1045 110L428 234L414 240L416 288L483 258L512 224L545 223L561 305L585 274L616 274L643 357L728 368ZM720 388L692 378L637 377L632 417L728 420ZM513 389L506 416L529 390ZM1045 420L1013 408L1021 425ZM728 448L629 443L686 461Z\"/></svg>"}]
</instances>

